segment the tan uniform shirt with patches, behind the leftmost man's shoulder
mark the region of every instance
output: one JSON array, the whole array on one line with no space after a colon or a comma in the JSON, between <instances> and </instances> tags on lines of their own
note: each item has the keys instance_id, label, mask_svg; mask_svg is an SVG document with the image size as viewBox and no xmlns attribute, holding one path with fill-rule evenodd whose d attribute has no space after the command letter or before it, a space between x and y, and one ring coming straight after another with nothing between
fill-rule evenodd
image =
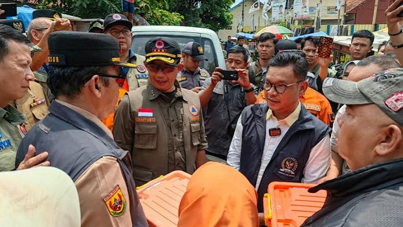
<instances>
[{"instance_id":1,"label":"tan uniform shirt with patches, behind the leftmost man's shoulder","mask_svg":"<svg viewBox=\"0 0 403 227\"><path fill-rule=\"evenodd\" d=\"M31 81L30 90L22 98L11 102L10 105L26 117L23 126L28 131L36 124L36 122L46 117L49 113L48 107L50 104L42 86Z\"/></svg>"}]
</instances>

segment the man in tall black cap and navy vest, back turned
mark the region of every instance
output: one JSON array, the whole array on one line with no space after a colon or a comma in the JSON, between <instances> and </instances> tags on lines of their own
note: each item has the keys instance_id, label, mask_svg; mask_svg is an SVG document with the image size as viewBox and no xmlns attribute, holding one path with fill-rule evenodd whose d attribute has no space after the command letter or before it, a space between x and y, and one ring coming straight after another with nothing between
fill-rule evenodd
<instances>
[{"instance_id":1,"label":"man in tall black cap and navy vest, back turned","mask_svg":"<svg viewBox=\"0 0 403 227\"><path fill-rule=\"evenodd\" d=\"M49 35L48 84L56 99L50 113L28 132L29 144L47 151L66 172L80 198L82 226L148 226L131 174L130 154L118 147L100 119L114 111L119 94L119 44L105 34ZM125 63L126 67L135 67Z\"/></svg>"}]
</instances>

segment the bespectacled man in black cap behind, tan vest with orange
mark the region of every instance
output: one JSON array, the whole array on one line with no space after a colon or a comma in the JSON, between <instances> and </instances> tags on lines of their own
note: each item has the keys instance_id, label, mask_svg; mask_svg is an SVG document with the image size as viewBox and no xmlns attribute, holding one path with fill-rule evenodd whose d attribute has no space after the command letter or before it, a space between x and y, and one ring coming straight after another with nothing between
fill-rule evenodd
<instances>
[{"instance_id":1,"label":"bespectacled man in black cap behind, tan vest with orange","mask_svg":"<svg viewBox=\"0 0 403 227\"><path fill-rule=\"evenodd\" d=\"M116 103L120 102L123 95L147 84L148 71L144 67L144 56L138 55L130 49L132 45L132 27L133 24L127 17L120 13L112 13L105 17L104 20L104 33L110 35L118 40L120 45L120 61L121 63L136 64L137 68L120 67L119 75L122 75L125 79L120 81L119 84L119 98ZM115 113L111 113L107 118L102 121L112 131Z\"/></svg>"}]
</instances>

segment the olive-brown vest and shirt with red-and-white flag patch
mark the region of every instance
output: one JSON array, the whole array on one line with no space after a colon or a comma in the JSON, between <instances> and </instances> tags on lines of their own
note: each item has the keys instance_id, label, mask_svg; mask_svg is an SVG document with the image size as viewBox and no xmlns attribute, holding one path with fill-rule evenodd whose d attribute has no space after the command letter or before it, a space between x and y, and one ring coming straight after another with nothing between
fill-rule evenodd
<instances>
[{"instance_id":1,"label":"olive-brown vest and shirt with red-and-white flag patch","mask_svg":"<svg viewBox=\"0 0 403 227\"><path fill-rule=\"evenodd\" d=\"M171 101L150 82L120 100L112 132L132 154L137 186L174 170L192 174L197 151L207 148L198 95L175 87Z\"/></svg>"}]
</instances>

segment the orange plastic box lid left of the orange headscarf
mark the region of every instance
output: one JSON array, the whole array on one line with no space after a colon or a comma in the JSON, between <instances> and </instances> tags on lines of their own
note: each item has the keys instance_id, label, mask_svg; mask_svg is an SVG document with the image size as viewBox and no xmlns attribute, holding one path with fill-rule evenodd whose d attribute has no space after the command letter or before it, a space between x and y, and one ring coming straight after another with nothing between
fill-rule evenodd
<instances>
[{"instance_id":1,"label":"orange plastic box lid left of the orange headscarf","mask_svg":"<svg viewBox=\"0 0 403 227\"><path fill-rule=\"evenodd\" d=\"M178 211L190 174L173 171L137 188L150 227L177 227Z\"/></svg>"}]
</instances>

